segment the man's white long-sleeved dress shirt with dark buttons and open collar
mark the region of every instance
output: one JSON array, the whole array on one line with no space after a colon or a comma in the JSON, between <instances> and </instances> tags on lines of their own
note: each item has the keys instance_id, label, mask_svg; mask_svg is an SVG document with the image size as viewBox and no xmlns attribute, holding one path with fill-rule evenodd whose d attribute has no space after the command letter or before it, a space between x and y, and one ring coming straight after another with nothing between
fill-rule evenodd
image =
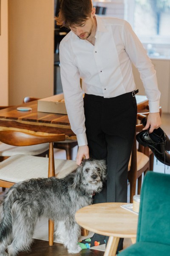
<instances>
[{"instance_id":1,"label":"man's white long-sleeved dress shirt with dark buttons and open collar","mask_svg":"<svg viewBox=\"0 0 170 256\"><path fill-rule=\"evenodd\" d=\"M59 44L61 80L71 129L78 145L87 145L83 92L111 98L136 89L132 62L138 68L150 112L159 112L156 71L127 21L96 15L95 44L72 31ZM83 88L80 87L80 77Z\"/></svg>"}]
</instances>

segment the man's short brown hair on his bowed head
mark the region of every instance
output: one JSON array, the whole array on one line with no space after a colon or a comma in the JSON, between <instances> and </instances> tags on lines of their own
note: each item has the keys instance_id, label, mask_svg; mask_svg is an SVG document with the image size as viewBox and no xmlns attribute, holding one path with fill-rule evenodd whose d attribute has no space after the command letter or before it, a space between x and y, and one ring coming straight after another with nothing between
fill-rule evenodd
<instances>
[{"instance_id":1,"label":"man's short brown hair on his bowed head","mask_svg":"<svg viewBox=\"0 0 170 256\"><path fill-rule=\"evenodd\" d=\"M91 0L62 0L59 15L55 17L57 25L69 28L81 25L92 12Z\"/></svg>"}]
</instances>

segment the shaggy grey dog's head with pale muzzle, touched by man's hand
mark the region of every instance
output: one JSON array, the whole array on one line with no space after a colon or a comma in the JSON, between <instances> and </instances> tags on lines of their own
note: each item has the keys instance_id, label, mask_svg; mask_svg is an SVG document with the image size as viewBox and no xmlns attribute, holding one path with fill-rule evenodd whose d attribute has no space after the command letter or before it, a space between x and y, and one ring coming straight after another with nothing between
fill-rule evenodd
<instances>
[{"instance_id":1,"label":"shaggy grey dog's head with pale muzzle, touched by man's hand","mask_svg":"<svg viewBox=\"0 0 170 256\"><path fill-rule=\"evenodd\" d=\"M105 160L83 160L74 177L74 188L86 192L100 192L106 180Z\"/></svg>"}]
</instances>

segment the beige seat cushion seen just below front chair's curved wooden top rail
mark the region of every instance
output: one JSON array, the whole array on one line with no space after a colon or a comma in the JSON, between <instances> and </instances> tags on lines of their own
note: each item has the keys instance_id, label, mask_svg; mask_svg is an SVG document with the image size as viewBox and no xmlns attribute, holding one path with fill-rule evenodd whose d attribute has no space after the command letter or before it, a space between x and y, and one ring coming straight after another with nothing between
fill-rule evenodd
<instances>
[{"instance_id":1,"label":"beige seat cushion seen just below front chair's curved wooden top rail","mask_svg":"<svg viewBox=\"0 0 170 256\"><path fill-rule=\"evenodd\" d=\"M1 157L11 157L16 154L26 154L26 155L35 156L38 154L42 154L48 149L49 149L49 143L43 143L43 144L38 144L33 146L17 147L17 146L11 146L11 145L0 142Z\"/></svg>"}]
</instances>

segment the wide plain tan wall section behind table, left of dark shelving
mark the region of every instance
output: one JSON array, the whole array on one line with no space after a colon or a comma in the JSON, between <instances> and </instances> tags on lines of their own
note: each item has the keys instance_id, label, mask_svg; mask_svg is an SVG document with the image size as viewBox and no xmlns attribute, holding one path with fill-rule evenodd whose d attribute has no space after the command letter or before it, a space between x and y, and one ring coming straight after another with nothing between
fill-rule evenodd
<instances>
[{"instance_id":1,"label":"wide plain tan wall section behind table, left of dark shelving","mask_svg":"<svg viewBox=\"0 0 170 256\"><path fill-rule=\"evenodd\" d=\"M9 105L53 95L54 1L8 0L8 42Z\"/></svg>"}]
</instances>

